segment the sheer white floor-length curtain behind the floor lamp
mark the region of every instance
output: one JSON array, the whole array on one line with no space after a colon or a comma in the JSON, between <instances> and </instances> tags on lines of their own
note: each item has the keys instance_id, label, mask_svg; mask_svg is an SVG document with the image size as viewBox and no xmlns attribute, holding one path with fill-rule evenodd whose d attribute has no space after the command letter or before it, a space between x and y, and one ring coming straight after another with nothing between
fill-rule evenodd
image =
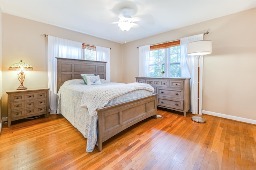
<instances>
[{"instance_id":1,"label":"sheer white floor-length curtain behind the floor lamp","mask_svg":"<svg viewBox=\"0 0 256 170\"><path fill-rule=\"evenodd\" d=\"M198 59L196 56L187 55L187 44L193 41L203 40L203 34L194 35L180 39L180 64L181 64L181 76L190 77L190 104L193 114L198 113L197 108L197 96L198 96ZM202 114L202 91L203 91L203 56L199 59L200 75L199 75L199 114Z\"/></svg>"}]
</instances>

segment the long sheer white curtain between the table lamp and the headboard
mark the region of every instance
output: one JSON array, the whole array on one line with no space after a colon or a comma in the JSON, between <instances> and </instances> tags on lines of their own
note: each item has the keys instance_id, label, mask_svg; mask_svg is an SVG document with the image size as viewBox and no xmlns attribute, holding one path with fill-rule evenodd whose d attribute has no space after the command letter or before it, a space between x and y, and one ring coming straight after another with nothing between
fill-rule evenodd
<instances>
[{"instance_id":1,"label":"long sheer white curtain between the table lamp and the headboard","mask_svg":"<svg viewBox=\"0 0 256 170\"><path fill-rule=\"evenodd\" d=\"M48 36L48 88L50 113L57 111L57 60L56 57L81 59L82 43Z\"/></svg>"}]
</instances>

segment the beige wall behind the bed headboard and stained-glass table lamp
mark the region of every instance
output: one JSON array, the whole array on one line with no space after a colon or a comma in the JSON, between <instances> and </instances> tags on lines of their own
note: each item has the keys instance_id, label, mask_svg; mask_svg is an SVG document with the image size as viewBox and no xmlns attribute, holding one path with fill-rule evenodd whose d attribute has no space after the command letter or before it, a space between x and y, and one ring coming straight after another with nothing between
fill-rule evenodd
<instances>
[{"instance_id":1,"label":"beige wall behind the bed headboard and stained-glass table lamp","mask_svg":"<svg viewBox=\"0 0 256 170\"><path fill-rule=\"evenodd\" d=\"M31 64L34 68L26 72L24 86L39 88L48 86L47 73L47 37L44 33L55 37L70 39L90 45L111 48L110 80L122 82L122 44L63 29L53 25L12 16L2 13L2 116L7 116L6 90L20 86L15 71L8 67L20 60Z\"/></svg>"}]
</instances>

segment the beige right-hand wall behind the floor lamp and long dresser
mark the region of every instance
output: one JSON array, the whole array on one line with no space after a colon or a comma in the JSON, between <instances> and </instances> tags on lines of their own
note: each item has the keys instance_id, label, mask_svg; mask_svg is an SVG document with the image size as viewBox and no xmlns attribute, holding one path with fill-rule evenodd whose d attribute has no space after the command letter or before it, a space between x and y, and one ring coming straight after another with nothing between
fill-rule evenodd
<instances>
[{"instance_id":1,"label":"beige right-hand wall behind the floor lamp and long dresser","mask_svg":"<svg viewBox=\"0 0 256 170\"><path fill-rule=\"evenodd\" d=\"M206 31L212 54L204 57L202 110L256 120L256 8L124 44L123 82L138 76L136 47Z\"/></svg>"}]
</instances>

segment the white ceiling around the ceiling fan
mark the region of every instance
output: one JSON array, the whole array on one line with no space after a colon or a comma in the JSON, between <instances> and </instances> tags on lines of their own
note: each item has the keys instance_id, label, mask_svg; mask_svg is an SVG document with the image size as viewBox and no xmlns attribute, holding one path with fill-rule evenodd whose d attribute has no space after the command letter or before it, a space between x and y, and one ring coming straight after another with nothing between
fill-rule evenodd
<instances>
[{"instance_id":1,"label":"white ceiling around the ceiling fan","mask_svg":"<svg viewBox=\"0 0 256 170\"><path fill-rule=\"evenodd\" d=\"M255 8L256 0L0 0L0 7L14 16L127 43ZM114 23L122 8L134 9L136 25L127 32Z\"/></svg>"}]
</instances>

